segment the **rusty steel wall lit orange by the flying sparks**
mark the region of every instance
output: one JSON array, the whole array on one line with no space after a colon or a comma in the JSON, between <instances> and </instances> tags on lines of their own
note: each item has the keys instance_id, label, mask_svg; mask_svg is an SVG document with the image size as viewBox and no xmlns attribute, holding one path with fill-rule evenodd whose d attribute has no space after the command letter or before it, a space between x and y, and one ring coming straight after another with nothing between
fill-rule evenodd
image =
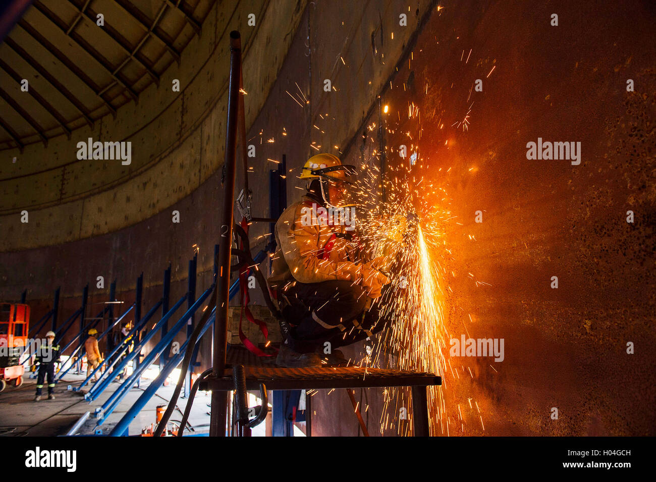
<instances>
[{"instance_id":1,"label":"rusty steel wall lit orange by the flying sparks","mask_svg":"<svg viewBox=\"0 0 656 482\"><path fill-rule=\"evenodd\" d=\"M447 192L429 205L453 216L436 254L450 337L504 340L499 363L451 358L449 435L654 435L653 5L441 6L381 93L390 167L414 144L411 175ZM581 142L581 163L527 159L539 137ZM363 129L351 159L375 148ZM316 432L356 435L344 393L314 400Z\"/></svg>"}]
</instances>

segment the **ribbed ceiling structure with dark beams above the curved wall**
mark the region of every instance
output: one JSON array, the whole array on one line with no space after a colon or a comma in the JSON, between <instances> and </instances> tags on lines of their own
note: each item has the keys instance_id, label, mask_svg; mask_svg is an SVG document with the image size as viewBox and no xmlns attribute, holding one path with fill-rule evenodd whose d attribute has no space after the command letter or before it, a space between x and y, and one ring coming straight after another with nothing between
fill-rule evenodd
<instances>
[{"instance_id":1,"label":"ribbed ceiling structure with dark beams above the curved wall","mask_svg":"<svg viewBox=\"0 0 656 482\"><path fill-rule=\"evenodd\" d=\"M138 102L215 1L33 1L0 45L0 150L47 144Z\"/></svg>"}]
</instances>

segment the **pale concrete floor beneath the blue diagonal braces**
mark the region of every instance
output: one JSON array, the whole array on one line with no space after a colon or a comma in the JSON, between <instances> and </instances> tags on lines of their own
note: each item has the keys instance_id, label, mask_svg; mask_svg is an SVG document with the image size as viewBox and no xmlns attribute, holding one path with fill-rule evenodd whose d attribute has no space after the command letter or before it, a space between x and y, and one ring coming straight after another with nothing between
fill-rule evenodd
<instances>
[{"instance_id":1,"label":"pale concrete floor beneath the blue diagonal braces","mask_svg":"<svg viewBox=\"0 0 656 482\"><path fill-rule=\"evenodd\" d=\"M107 390L98 399L92 403L85 401L83 392L72 392L66 390L69 384L76 386L84 379L81 375L67 375L65 380L58 383L55 387L54 400L47 400L44 397L41 401L35 402L35 379L26 378L20 388L6 388L0 393L0 432L10 428L14 430L7 433L9 436L27 435L30 437L54 437L64 435L70 427L79 420L87 411L91 411L91 416L82 426L77 435L92 435L96 428L96 419L92 418L96 407L100 407L111 395L119 388L119 384L114 382L110 384ZM113 426L123 417L123 414L134 404L140 397L143 390L148 387L150 380L142 380L141 388L133 388L125 398L119 403L117 409L110 414L107 420L98 428L102 429L103 435L111 432ZM170 384L167 387L161 387L156 394L134 418L130 424L129 435L138 435L142 428L150 427L155 423L155 409L157 405L167 405L173 394L175 386ZM199 426L195 433L207 432L204 424L209 424L209 393L198 392L194 399L194 407L190 414L189 422L192 426ZM186 399L178 399L178 410L171 416L171 420L180 420L182 412L186 407ZM185 433L188 433L186 431Z\"/></svg>"}]
</instances>

